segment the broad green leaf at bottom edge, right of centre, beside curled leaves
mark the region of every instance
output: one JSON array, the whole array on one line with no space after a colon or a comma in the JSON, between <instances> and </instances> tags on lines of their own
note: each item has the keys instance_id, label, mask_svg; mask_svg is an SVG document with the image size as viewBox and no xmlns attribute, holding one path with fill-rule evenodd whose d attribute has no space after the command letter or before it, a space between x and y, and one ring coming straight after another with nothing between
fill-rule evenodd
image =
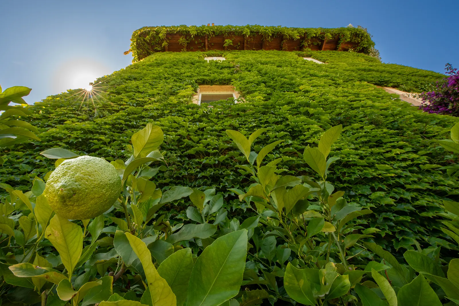
<instances>
[{"instance_id":1,"label":"broad green leaf at bottom edge, right of centre, beside curled leaves","mask_svg":"<svg viewBox=\"0 0 459 306\"><path fill-rule=\"evenodd\" d=\"M298 303L316 305L311 283L305 269L297 269L289 262L284 274L284 288L287 294Z\"/></svg>"}]
</instances>

